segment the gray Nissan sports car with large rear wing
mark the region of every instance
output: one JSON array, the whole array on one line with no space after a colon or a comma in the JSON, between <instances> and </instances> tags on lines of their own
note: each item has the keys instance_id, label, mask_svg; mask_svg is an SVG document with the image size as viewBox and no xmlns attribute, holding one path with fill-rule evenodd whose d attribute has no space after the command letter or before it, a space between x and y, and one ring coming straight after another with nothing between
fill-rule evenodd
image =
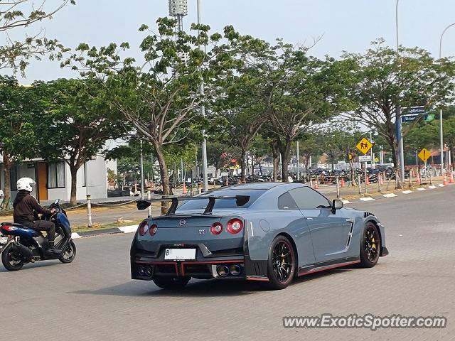
<instances>
[{"instance_id":1,"label":"gray Nissan sports car with large rear wing","mask_svg":"<svg viewBox=\"0 0 455 341\"><path fill-rule=\"evenodd\" d=\"M132 278L161 288L183 288L193 277L282 289L296 276L356 263L369 268L388 254L373 213L343 208L300 183L235 185L166 200L167 214L141 222L131 247Z\"/></svg>"}]
</instances>

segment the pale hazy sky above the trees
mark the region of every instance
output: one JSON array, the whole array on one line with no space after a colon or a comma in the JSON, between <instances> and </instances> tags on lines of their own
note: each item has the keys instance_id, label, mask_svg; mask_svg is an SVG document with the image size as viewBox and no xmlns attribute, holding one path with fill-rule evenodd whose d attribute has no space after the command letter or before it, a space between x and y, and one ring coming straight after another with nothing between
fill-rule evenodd
<instances>
[{"instance_id":1,"label":"pale hazy sky above the trees","mask_svg":"<svg viewBox=\"0 0 455 341\"><path fill-rule=\"evenodd\" d=\"M139 43L144 33L141 24L156 27L156 18L168 15L167 0L76 0L50 21L43 21L15 31L21 38L45 30L49 38L57 38L68 48L79 43L102 46L111 42L128 41L130 54L139 59ZM400 44L419 46L439 55L439 37L446 26L455 23L455 0L399 0ZM47 0L48 6L60 0ZM283 38L287 43L309 45L322 36L310 50L322 58L339 58L343 50L362 53L370 42L385 38L387 45L396 46L396 0L200 0L202 22L213 32L232 25L241 34L250 34L273 42ZM188 0L185 28L197 21L196 0ZM1 33L4 34L4 33ZM1 37L1 36L0 36ZM4 37L6 40L6 37ZM443 56L455 55L455 26L444 35ZM58 77L78 77L68 68L60 69L58 62L32 61L22 84L34 80L53 80Z\"/></svg>"}]
</instances>

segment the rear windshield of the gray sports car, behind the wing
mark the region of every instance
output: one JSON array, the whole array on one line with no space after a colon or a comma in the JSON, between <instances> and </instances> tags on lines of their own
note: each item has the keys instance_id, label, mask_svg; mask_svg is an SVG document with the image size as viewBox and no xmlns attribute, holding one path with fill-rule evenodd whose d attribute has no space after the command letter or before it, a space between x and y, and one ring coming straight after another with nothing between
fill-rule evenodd
<instances>
[{"instance_id":1,"label":"rear windshield of the gray sports car, behind the wing","mask_svg":"<svg viewBox=\"0 0 455 341\"><path fill-rule=\"evenodd\" d=\"M250 200L243 205L237 206L235 199L220 199L215 200L215 206L213 210L223 209L223 208L248 208L252 205L253 202L257 200L266 190L215 190L213 192L200 195L201 197L214 196L214 197L235 197L235 195L249 195ZM188 200L184 201L177 209L181 210L205 210L205 207L208 205L207 200Z\"/></svg>"}]
</instances>

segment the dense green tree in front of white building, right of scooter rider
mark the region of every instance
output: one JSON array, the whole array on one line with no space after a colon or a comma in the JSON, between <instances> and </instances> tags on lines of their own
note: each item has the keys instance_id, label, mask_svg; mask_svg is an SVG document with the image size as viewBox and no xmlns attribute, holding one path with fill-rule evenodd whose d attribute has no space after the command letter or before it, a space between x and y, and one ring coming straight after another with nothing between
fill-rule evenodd
<instances>
[{"instance_id":1,"label":"dense green tree in front of white building, right of scooter rider","mask_svg":"<svg viewBox=\"0 0 455 341\"><path fill-rule=\"evenodd\" d=\"M76 204L77 170L102 153L105 142L124 134L119 114L109 108L102 82L66 80L36 82L46 108L40 122L40 154L50 160L63 159L70 167L70 202Z\"/></svg>"}]
</instances>

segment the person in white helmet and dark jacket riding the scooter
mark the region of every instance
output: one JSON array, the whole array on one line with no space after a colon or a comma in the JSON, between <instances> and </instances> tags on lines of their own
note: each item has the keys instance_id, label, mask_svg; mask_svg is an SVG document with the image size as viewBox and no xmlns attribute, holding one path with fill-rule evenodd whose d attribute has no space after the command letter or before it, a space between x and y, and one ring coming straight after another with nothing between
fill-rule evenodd
<instances>
[{"instance_id":1,"label":"person in white helmet and dark jacket riding the scooter","mask_svg":"<svg viewBox=\"0 0 455 341\"><path fill-rule=\"evenodd\" d=\"M35 197L30 195L33 190L31 187L33 184L35 184L35 181L31 178L20 178L17 180L18 193L13 202L14 222L36 231L45 231L48 235L48 251L51 254L58 254L54 246L55 224L47 220L38 220L38 213L41 215L52 215L55 212L55 208L48 210L38 204Z\"/></svg>"}]
</instances>

